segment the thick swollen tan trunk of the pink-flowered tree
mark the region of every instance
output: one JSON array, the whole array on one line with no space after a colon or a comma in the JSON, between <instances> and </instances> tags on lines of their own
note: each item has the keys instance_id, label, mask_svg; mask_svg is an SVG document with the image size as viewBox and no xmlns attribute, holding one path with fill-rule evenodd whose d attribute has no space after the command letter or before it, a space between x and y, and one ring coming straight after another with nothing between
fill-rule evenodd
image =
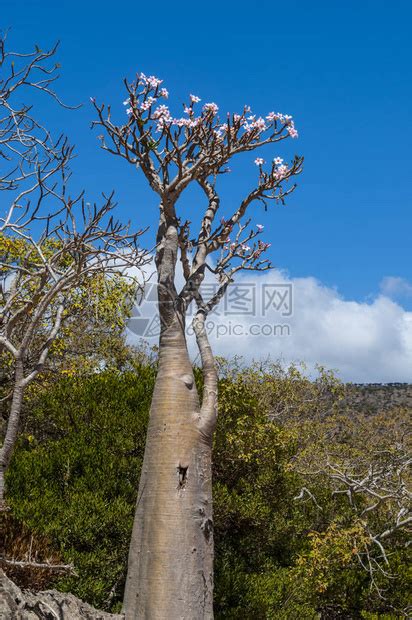
<instances>
[{"instance_id":1,"label":"thick swollen tan trunk of the pink-flowered tree","mask_svg":"<svg viewBox=\"0 0 412 620\"><path fill-rule=\"evenodd\" d=\"M160 340L129 552L126 620L213 618L211 443L176 315Z\"/></svg>"}]
</instances>

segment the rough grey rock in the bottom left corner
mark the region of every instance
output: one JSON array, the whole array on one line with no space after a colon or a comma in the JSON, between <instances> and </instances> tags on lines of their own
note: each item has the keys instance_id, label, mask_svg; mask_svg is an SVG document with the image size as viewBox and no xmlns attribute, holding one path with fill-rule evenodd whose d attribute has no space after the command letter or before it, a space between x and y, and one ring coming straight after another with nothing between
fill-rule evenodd
<instances>
[{"instance_id":1,"label":"rough grey rock in the bottom left corner","mask_svg":"<svg viewBox=\"0 0 412 620\"><path fill-rule=\"evenodd\" d=\"M98 611L73 594L22 591L0 569L0 620L124 620Z\"/></svg>"}]
</instances>

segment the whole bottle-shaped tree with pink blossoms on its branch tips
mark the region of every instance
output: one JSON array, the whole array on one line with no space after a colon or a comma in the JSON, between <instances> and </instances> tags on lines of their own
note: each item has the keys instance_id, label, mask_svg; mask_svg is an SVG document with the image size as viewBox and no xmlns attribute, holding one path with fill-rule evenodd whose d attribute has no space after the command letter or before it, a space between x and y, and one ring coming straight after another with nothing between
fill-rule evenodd
<instances>
[{"instance_id":1,"label":"whole bottle-shaped tree with pink blossoms on its branch tips","mask_svg":"<svg viewBox=\"0 0 412 620\"><path fill-rule=\"evenodd\" d=\"M255 164L255 187L229 217L220 217L219 177L237 155L296 137L291 117L270 113L256 118L247 106L222 122L215 103L199 109L191 95L184 116L174 118L168 92L154 76L125 81L128 118L115 122L112 110L93 103L102 146L141 169L159 200L156 267L161 322L159 370L154 390L135 524L129 553L126 618L212 618L213 521L211 445L217 415L217 373L205 320L240 270L270 268L262 258L269 244L252 228L257 205L283 203L295 185L302 158L290 165L275 158ZM123 112L124 113L124 112ZM200 188L204 207L198 232L179 217L178 201L191 185ZM198 208L198 205L196 205ZM230 239L232 236L232 239ZM213 262L212 262L213 258ZM180 260L185 284L177 290ZM217 292L202 296L206 270ZM203 366L199 396L189 359L185 319L196 304L193 327Z\"/></svg>"}]
</instances>

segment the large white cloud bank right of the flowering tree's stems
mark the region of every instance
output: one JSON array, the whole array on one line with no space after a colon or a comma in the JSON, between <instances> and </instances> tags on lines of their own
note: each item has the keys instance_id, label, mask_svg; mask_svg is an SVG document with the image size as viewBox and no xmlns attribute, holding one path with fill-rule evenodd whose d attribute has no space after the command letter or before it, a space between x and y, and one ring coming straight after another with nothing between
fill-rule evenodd
<instances>
[{"instance_id":1,"label":"large white cloud bank right of the flowering tree's stems","mask_svg":"<svg viewBox=\"0 0 412 620\"><path fill-rule=\"evenodd\" d=\"M209 283L212 278L209 276ZM278 270L242 274L236 286L245 285L256 291L253 314L225 314L221 303L219 316L209 318L216 354L241 355L246 361L267 357L285 364L303 361L309 369L321 364L335 369L346 381L412 381L412 312L390 299L387 293L392 284L385 285L389 286L382 289L385 294L371 302L345 300L315 278L290 279ZM282 316L274 308L262 316L264 285L272 291L283 285L281 292L286 285L292 286L292 316ZM232 302L230 308L233 310ZM145 308L146 315L152 312L153 304ZM280 326L284 326L283 335ZM251 335L251 329L260 333ZM195 355L193 337L189 337L189 347Z\"/></svg>"}]
</instances>

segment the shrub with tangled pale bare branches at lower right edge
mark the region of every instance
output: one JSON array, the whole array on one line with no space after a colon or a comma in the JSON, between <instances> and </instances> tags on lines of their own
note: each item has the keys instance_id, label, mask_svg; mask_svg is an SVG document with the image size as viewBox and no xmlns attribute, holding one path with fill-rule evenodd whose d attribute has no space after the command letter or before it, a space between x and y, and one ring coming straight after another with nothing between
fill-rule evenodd
<instances>
[{"instance_id":1,"label":"shrub with tangled pale bare branches at lower right edge","mask_svg":"<svg viewBox=\"0 0 412 620\"><path fill-rule=\"evenodd\" d=\"M318 440L309 439L296 463L308 486L295 498L319 509L311 481L347 498L352 519L361 527L365 544L356 558L367 571L371 588L385 599L393 577L394 549L410 544L412 525L410 413L400 409L370 415L343 410L322 423L313 421ZM303 433L304 434L304 433ZM406 617L410 609L396 610Z\"/></svg>"}]
</instances>

